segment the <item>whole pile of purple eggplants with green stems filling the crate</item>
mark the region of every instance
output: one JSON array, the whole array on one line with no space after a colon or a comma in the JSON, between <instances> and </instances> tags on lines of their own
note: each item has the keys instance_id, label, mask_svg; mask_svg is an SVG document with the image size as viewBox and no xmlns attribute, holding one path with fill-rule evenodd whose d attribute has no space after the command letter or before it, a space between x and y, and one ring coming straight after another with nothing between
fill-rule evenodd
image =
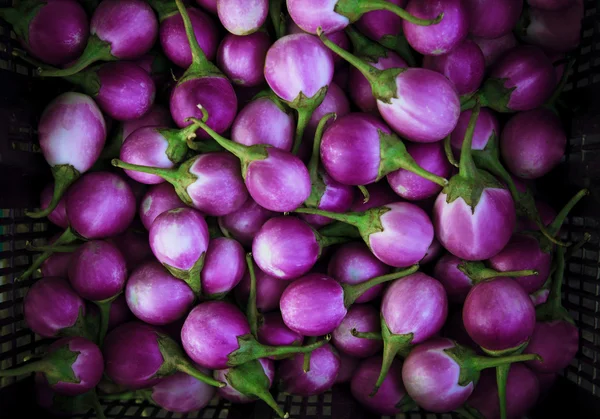
<instances>
[{"instance_id":1,"label":"whole pile of purple eggplants with green stems filling the crate","mask_svg":"<svg viewBox=\"0 0 600 419\"><path fill-rule=\"evenodd\" d=\"M80 4L81 3L81 4ZM190 4L197 3L197 4ZM561 161L582 0L31 0L58 233L28 243L54 413L346 385L380 414L518 418L569 365ZM335 415L334 412L334 416Z\"/></svg>"}]
</instances>

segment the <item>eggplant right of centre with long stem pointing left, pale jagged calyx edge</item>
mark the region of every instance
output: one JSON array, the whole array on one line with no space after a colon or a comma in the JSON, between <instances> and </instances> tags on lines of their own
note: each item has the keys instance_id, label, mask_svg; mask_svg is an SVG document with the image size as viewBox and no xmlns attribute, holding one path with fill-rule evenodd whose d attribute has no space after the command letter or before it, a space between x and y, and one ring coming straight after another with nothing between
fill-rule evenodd
<instances>
[{"instance_id":1,"label":"eggplant right of centre with long stem pointing left, pale jagged calyx edge","mask_svg":"<svg viewBox=\"0 0 600 419\"><path fill-rule=\"evenodd\" d=\"M296 212L323 215L357 227L377 259L397 268L418 263L433 241L433 225L429 216L408 202L346 214L311 208L299 208Z\"/></svg>"}]
</instances>

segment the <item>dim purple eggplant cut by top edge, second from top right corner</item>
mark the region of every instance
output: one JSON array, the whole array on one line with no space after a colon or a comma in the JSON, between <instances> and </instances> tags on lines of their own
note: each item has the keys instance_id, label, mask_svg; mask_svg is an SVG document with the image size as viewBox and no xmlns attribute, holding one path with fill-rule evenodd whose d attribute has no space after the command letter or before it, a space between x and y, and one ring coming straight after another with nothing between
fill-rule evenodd
<instances>
[{"instance_id":1,"label":"dim purple eggplant cut by top edge, second from top right corner","mask_svg":"<svg viewBox=\"0 0 600 419\"><path fill-rule=\"evenodd\" d=\"M523 0L466 0L471 35L500 38L511 32L521 11Z\"/></svg>"}]
</instances>

